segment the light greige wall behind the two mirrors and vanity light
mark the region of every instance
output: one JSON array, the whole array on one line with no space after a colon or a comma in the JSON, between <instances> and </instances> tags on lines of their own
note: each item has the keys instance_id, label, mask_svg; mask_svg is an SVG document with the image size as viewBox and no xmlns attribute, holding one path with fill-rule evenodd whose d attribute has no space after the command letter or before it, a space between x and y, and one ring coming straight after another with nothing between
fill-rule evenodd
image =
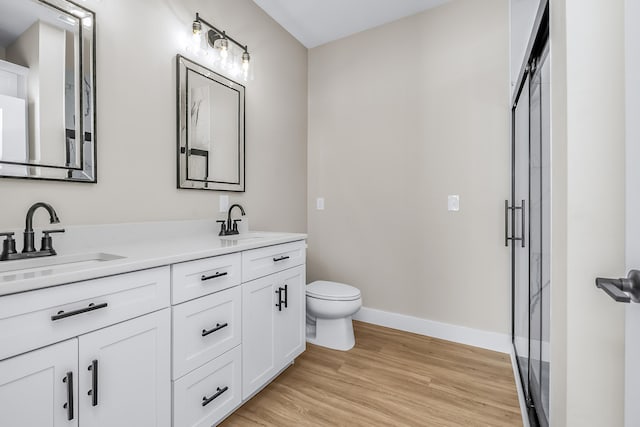
<instances>
[{"instance_id":1,"label":"light greige wall behind the two mirrors and vanity light","mask_svg":"<svg viewBox=\"0 0 640 427\"><path fill-rule=\"evenodd\" d=\"M196 12L249 46L247 192L254 229L306 230L307 50L250 0L109 0L97 13L98 184L0 180L0 228L21 226L31 203L66 224L217 215L216 192L177 190L175 55ZM42 216L40 216L42 215ZM38 214L38 224L44 224Z\"/></svg>"}]
</instances>

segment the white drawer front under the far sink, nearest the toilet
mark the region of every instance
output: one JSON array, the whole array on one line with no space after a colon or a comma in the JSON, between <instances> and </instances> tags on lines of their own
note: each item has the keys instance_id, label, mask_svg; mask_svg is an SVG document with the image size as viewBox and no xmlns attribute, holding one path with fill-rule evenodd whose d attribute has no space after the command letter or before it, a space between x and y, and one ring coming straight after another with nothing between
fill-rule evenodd
<instances>
[{"instance_id":1,"label":"white drawer front under the far sink, nearest the toilet","mask_svg":"<svg viewBox=\"0 0 640 427\"><path fill-rule=\"evenodd\" d=\"M305 263L303 240L252 249L242 253L242 281L257 279Z\"/></svg>"}]
</instances>

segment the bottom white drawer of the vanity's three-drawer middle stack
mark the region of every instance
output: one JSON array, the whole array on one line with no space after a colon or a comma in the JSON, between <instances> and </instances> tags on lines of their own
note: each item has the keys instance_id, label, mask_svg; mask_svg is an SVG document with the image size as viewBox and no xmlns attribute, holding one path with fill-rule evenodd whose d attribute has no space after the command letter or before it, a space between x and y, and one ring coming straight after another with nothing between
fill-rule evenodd
<instances>
[{"instance_id":1,"label":"bottom white drawer of the vanity's three-drawer middle stack","mask_svg":"<svg viewBox=\"0 0 640 427\"><path fill-rule=\"evenodd\" d=\"M240 346L238 346L175 381L173 383L173 425L180 427L216 425L240 405L241 359Z\"/></svg>"}]
</instances>

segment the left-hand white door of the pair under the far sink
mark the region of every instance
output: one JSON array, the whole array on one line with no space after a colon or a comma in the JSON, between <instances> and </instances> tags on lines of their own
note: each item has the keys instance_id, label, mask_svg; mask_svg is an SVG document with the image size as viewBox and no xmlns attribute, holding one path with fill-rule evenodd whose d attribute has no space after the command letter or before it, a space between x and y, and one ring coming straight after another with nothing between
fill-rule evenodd
<instances>
[{"instance_id":1,"label":"left-hand white door of the pair under the far sink","mask_svg":"<svg viewBox=\"0 0 640 427\"><path fill-rule=\"evenodd\" d=\"M277 275L242 285L242 398L246 399L276 373L273 321Z\"/></svg>"}]
</instances>

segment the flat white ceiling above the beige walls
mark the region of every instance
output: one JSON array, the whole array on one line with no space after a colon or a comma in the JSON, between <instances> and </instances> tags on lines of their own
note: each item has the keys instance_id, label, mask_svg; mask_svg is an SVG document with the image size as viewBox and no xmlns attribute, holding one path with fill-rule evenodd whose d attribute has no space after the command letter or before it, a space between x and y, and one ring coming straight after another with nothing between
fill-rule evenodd
<instances>
[{"instance_id":1,"label":"flat white ceiling above the beige walls","mask_svg":"<svg viewBox=\"0 0 640 427\"><path fill-rule=\"evenodd\" d=\"M414 15L448 0L253 0L307 48Z\"/></svg>"}]
</instances>

